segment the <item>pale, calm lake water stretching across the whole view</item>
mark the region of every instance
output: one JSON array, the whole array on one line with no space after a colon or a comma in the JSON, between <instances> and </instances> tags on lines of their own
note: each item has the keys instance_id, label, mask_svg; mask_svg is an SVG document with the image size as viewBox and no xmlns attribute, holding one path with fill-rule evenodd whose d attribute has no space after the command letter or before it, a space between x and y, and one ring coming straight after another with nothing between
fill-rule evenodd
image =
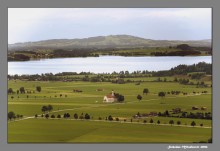
<instances>
[{"instance_id":1,"label":"pale, calm lake water stretching across the whole view","mask_svg":"<svg viewBox=\"0 0 220 151\"><path fill-rule=\"evenodd\" d=\"M198 57L122 57L55 58L8 62L8 74L41 74L59 72L112 73L113 71L169 70L180 64L211 63L211 56Z\"/></svg>"}]
</instances>

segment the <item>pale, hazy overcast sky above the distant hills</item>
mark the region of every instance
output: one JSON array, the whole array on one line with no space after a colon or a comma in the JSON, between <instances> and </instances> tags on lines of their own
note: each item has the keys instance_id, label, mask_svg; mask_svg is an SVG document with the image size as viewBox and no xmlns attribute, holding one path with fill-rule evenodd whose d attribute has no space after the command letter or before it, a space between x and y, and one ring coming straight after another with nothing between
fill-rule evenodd
<instances>
[{"instance_id":1,"label":"pale, hazy overcast sky above the distant hills","mask_svg":"<svg viewBox=\"0 0 220 151\"><path fill-rule=\"evenodd\" d=\"M126 34L211 39L211 8L9 8L8 43Z\"/></svg>"}]
</instances>

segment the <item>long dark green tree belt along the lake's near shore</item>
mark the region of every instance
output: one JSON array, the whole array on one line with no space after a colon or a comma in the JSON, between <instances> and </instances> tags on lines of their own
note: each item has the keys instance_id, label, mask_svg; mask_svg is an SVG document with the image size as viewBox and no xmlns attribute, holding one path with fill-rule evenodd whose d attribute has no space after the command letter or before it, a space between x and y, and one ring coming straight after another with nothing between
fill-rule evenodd
<instances>
[{"instance_id":1,"label":"long dark green tree belt along the lake's near shore","mask_svg":"<svg viewBox=\"0 0 220 151\"><path fill-rule=\"evenodd\" d=\"M34 75L8 75L8 79L20 79L20 80L29 80L29 81L90 81L90 82L112 82L117 84L123 84L126 82L131 82L130 79L124 80L124 78L136 78L136 77L162 77L162 76L173 76L173 75L189 75L192 79L200 79L206 74L212 74L212 64L200 62L193 65L178 65L170 70L164 71L120 71L112 73L102 73L94 74L91 72L62 72L62 73L45 73L45 74L34 74ZM71 75L74 75L71 76ZM79 75L79 76L77 76ZM84 75L82 77L81 75ZM90 76L92 75L92 76ZM166 78L163 80L158 78L158 82L166 82ZM177 79L176 79L177 82ZM179 80L181 84L189 84L187 79ZM10 91L9 91L10 93Z\"/></svg>"}]
</instances>

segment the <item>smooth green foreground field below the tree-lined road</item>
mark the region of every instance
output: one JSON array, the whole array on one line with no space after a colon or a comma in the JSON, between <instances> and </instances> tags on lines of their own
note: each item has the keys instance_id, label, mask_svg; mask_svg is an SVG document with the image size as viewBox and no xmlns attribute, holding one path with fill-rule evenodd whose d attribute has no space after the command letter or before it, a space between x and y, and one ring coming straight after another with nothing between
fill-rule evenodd
<instances>
[{"instance_id":1,"label":"smooth green foreground field below the tree-lined road","mask_svg":"<svg viewBox=\"0 0 220 151\"><path fill-rule=\"evenodd\" d=\"M205 128L62 119L12 122L8 129L9 142L187 143L207 141L211 135L211 129Z\"/></svg>"}]
</instances>

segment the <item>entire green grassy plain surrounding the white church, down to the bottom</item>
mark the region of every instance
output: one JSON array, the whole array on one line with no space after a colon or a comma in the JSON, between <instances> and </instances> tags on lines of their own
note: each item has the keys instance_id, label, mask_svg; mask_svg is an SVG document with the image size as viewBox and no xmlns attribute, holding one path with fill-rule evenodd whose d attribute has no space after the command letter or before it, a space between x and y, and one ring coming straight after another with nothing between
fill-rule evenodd
<instances>
[{"instance_id":1,"label":"entire green grassy plain surrounding the white church, down to the bottom","mask_svg":"<svg viewBox=\"0 0 220 151\"><path fill-rule=\"evenodd\" d=\"M146 80L150 81L150 80ZM211 88L197 88L195 85L181 85L174 82L142 82L112 84L108 82L39 82L39 81L8 81L8 88L14 91L20 87L26 90L35 90L41 86L41 92L31 94L8 95L8 112L14 111L22 114L23 120L9 121L8 142L199 142L211 138L212 121L202 119L189 119L177 117L146 117L143 119L130 119L133 115L149 112L164 112L173 108L181 108L187 112L212 112ZM143 95L143 89L148 88L150 93ZM74 93L73 89L82 90ZM96 91L103 89L103 91ZM125 96L124 103L103 103L103 97L114 90ZM188 95L166 95L158 97L158 92L178 90L187 92ZM36 91L36 90L35 90ZM193 91L197 94L193 94ZM202 94L207 91L207 94ZM62 94L62 96L60 96ZM137 95L142 95L142 100L137 100ZM28 98L27 98L28 95ZM67 95L65 97L65 95ZM14 98L12 99L11 96ZM19 96L19 98L18 98ZM70 119L45 119L30 118L35 114L41 115L41 107L51 104L53 110L50 115L70 113ZM192 110L192 106L207 107L206 111ZM88 113L91 120L73 120L73 114ZM120 119L119 122L107 122L109 115ZM101 117L102 120L97 121ZM150 124L150 119L160 120L160 125ZM124 119L127 122L124 122ZM174 125L169 125L169 120L174 120ZM147 124L143 124L146 120ZM176 122L181 121L182 126ZM190 127L192 121L196 127ZM203 124L203 127L199 125ZM197 127L198 126L198 127Z\"/></svg>"}]
</instances>

